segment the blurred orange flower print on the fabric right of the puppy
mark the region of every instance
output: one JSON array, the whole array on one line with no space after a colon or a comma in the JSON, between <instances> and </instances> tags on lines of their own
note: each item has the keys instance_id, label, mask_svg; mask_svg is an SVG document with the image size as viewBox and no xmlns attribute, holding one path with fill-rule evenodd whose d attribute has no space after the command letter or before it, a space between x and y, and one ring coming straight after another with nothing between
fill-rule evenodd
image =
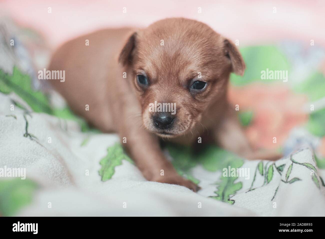
<instances>
[{"instance_id":1,"label":"blurred orange flower print on the fabric right of the puppy","mask_svg":"<svg viewBox=\"0 0 325 239\"><path fill-rule=\"evenodd\" d=\"M253 111L253 121L246 128L248 140L254 148L281 147L295 126L308 120L303 106L305 95L294 94L283 84L253 83L230 87L229 100L238 104L240 111ZM276 143L273 143L276 137Z\"/></svg>"}]
</instances>

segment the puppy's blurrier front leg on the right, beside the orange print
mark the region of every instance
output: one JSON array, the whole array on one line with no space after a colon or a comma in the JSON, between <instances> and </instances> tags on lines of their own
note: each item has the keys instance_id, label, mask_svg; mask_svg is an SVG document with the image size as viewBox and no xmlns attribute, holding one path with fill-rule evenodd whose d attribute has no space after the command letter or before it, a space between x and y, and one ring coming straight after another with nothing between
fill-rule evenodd
<instances>
[{"instance_id":1,"label":"puppy's blurrier front leg on the right, beside the orange print","mask_svg":"<svg viewBox=\"0 0 325 239\"><path fill-rule=\"evenodd\" d=\"M255 151L246 138L235 110L227 107L224 117L214 129L214 139L222 148L247 159L277 160L281 154L274 151Z\"/></svg>"}]
</instances>

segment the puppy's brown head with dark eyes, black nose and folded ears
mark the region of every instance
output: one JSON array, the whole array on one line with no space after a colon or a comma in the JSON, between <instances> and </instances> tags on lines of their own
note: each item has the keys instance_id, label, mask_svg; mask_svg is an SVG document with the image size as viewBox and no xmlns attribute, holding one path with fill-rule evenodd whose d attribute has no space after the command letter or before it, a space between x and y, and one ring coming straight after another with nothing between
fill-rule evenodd
<instances>
[{"instance_id":1,"label":"puppy's brown head with dark eyes, black nose and folded ears","mask_svg":"<svg viewBox=\"0 0 325 239\"><path fill-rule=\"evenodd\" d=\"M181 18L133 33L119 61L133 72L144 126L162 137L187 133L225 97L230 72L243 75L245 69L233 43L204 23Z\"/></svg>"}]
</instances>

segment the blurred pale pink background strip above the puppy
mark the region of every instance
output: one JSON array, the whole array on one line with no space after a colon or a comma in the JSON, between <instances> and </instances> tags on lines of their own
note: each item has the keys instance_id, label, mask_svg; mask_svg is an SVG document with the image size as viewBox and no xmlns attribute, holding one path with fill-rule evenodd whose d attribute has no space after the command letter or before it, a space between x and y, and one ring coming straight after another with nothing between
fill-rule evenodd
<instances>
[{"instance_id":1,"label":"blurred pale pink background strip above the puppy","mask_svg":"<svg viewBox=\"0 0 325 239\"><path fill-rule=\"evenodd\" d=\"M2 0L0 9L0 16L42 32L51 48L98 28L144 27L167 17L200 20L232 40L239 39L240 46L269 44L279 38L308 44L313 39L315 46L325 46L325 1Z\"/></svg>"}]
</instances>

